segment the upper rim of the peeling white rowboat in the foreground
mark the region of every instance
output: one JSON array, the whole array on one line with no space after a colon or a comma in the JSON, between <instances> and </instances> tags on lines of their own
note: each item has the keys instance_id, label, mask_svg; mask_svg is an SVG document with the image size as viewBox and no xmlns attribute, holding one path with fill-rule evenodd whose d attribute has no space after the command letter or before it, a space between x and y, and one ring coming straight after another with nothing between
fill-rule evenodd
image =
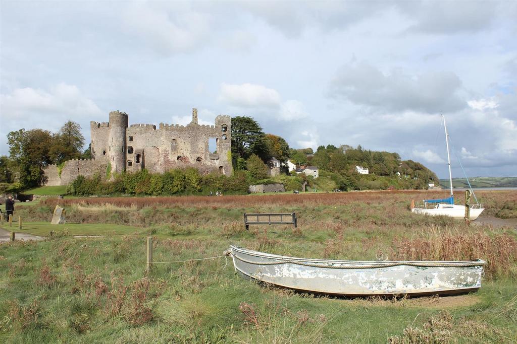
<instances>
[{"instance_id":1,"label":"upper rim of the peeling white rowboat in the foreground","mask_svg":"<svg viewBox=\"0 0 517 344\"><path fill-rule=\"evenodd\" d=\"M484 266L486 264L486 261L482 259L476 259L471 261L450 261L450 260L385 260L385 261L376 261L376 260L332 260L332 259L311 259L311 258L298 258L298 257L288 257L288 256L281 256L277 254L271 254L271 253L264 253L260 251L253 251L249 249L244 249L237 247L236 245L230 245L231 251L236 251L242 254L247 254L250 256L254 256L257 258L268 258L268 259L277 259L277 260L284 260L289 263L289 261L301 261L301 262L310 262L310 263L320 263L320 264L343 264L343 265L390 265L390 264L398 264L399 266L404 266L404 263L408 264L450 264L451 268L462 268L458 267L456 265L459 264L472 264L472 263L479 263L479 265L473 266ZM257 265L260 265L261 262L256 262ZM325 266L321 266L321 268L326 268Z\"/></svg>"}]
</instances>

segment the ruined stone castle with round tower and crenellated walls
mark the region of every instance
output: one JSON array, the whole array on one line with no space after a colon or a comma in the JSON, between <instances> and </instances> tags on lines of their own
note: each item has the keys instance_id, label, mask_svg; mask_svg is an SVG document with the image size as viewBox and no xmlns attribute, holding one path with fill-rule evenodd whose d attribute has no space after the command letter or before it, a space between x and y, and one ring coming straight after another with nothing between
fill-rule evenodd
<instances>
[{"instance_id":1,"label":"ruined stone castle with round tower and crenellated walls","mask_svg":"<svg viewBox=\"0 0 517 344\"><path fill-rule=\"evenodd\" d=\"M197 109L187 125L131 124L124 112L110 112L109 122L90 122L92 159L65 162L59 174L56 165L44 169L45 185L68 185L79 175L102 177L116 172L147 169L163 173L194 167L202 174L217 171L231 175L231 118L219 115L215 125L197 123Z\"/></svg>"}]
</instances>

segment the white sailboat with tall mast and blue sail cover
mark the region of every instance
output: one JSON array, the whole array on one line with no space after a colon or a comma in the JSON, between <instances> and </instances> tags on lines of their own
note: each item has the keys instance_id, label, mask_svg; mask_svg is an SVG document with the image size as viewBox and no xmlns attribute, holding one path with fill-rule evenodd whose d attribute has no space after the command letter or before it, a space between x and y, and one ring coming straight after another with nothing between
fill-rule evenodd
<instances>
[{"instance_id":1,"label":"white sailboat with tall mast and blue sail cover","mask_svg":"<svg viewBox=\"0 0 517 344\"><path fill-rule=\"evenodd\" d=\"M426 215L445 215L451 216L453 218L463 219L465 217L465 206L454 204L454 194L452 193L452 173L451 173L451 158L449 154L449 134L447 133L447 125L445 124L445 116L442 115L444 121L444 129L445 129L445 144L447 146L447 160L449 165L449 182L450 182L450 196L446 199L438 199L438 200L424 200L422 207L415 207L411 209L411 211L416 214L426 214ZM467 179L468 180L468 179ZM472 191L472 188L470 190ZM473 192L474 193L474 192ZM477 202L476 205L469 206L470 208L470 217L469 220L474 221L478 218L478 216L483 212L484 208ZM431 204L435 204L434 207L430 206Z\"/></svg>"}]
</instances>

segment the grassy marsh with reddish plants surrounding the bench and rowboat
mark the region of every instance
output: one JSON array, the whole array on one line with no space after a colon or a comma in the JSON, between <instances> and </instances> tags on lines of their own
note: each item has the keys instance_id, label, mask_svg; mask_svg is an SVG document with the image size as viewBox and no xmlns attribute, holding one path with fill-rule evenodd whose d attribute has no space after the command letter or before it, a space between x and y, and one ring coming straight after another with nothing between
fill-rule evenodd
<instances>
[{"instance_id":1,"label":"grassy marsh with reddish plants surrounding the bench and rowboat","mask_svg":"<svg viewBox=\"0 0 517 344\"><path fill-rule=\"evenodd\" d=\"M442 193L431 194L439 197ZM70 199L20 205L22 231L45 235L54 205L70 222L41 242L0 245L0 341L188 343L513 343L517 235L408 211L418 192ZM490 214L514 191L479 195ZM457 195L459 199L461 193ZM243 212L295 211L298 228ZM15 215L16 216L16 215ZM80 223L80 224L79 224ZM100 234L75 239L72 234ZM145 240L158 264L145 272ZM344 299L267 288L235 275L230 244L313 258L488 261L479 292ZM227 263L227 264L226 264Z\"/></svg>"}]
</instances>

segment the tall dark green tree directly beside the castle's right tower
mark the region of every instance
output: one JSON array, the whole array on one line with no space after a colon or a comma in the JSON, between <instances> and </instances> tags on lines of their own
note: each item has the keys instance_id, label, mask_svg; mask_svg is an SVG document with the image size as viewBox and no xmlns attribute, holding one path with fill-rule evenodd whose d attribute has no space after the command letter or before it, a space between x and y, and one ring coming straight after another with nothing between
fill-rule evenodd
<instances>
[{"instance_id":1,"label":"tall dark green tree directly beside the castle's right tower","mask_svg":"<svg viewBox=\"0 0 517 344\"><path fill-rule=\"evenodd\" d=\"M247 159L252 154L264 155L264 132L253 118L237 116L232 118L232 155Z\"/></svg>"}]
</instances>

